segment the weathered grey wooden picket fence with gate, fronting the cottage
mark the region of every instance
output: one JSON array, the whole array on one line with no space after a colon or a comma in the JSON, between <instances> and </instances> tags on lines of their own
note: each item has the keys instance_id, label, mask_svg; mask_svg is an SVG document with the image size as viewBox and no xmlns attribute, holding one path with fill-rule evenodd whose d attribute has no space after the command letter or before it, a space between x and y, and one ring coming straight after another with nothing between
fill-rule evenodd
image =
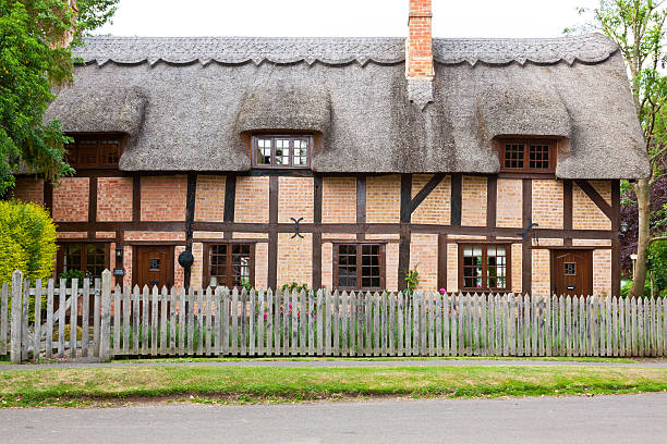
<instances>
[{"instance_id":1,"label":"weathered grey wooden picket fence with gate, fronting the cottage","mask_svg":"<svg viewBox=\"0 0 667 444\"><path fill-rule=\"evenodd\" d=\"M59 284L56 288L49 280L46 287L39 281L31 286L15 273L11 289L2 286L0 354L10 349L13 361L36 355L107 359L667 354L667 301L660 298L111 288L107 271L93 288L87 281L82 288L76 280L69 288L64 281ZM31 321L29 299L39 301L41 295L46 303L35 304ZM11 329L10 301L22 307L11 310Z\"/></svg>"}]
</instances>

